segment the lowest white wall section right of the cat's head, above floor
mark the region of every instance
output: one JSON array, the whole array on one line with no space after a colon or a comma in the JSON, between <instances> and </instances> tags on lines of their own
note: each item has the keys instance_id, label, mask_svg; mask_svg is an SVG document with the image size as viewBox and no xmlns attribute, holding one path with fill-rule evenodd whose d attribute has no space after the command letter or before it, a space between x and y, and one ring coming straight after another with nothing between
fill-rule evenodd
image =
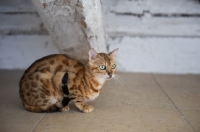
<instances>
[{"instance_id":1,"label":"lowest white wall section right of the cat's head, above floor","mask_svg":"<svg viewBox=\"0 0 200 132\"><path fill-rule=\"evenodd\" d=\"M119 47L120 71L200 74L200 38L122 37L109 47Z\"/></svg>"}]
</instances>

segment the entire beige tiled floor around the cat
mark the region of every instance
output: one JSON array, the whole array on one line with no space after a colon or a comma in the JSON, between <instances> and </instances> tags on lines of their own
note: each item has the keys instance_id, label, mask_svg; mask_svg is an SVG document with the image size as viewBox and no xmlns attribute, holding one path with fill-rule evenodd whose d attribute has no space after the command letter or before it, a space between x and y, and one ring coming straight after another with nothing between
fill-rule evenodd
<instances>
[{"instance_id":1,"label":"entire beige tiled floor around the cat","mask_svg":"<svg viewBox=\"0 0 200 132\"><path fill-rule=\"evenodd\" d=\"M200 75L119 73L81 113L31 113L21 104L22 71L0 71L1 132L200 132Z\"/></svg>"}]
</instances>

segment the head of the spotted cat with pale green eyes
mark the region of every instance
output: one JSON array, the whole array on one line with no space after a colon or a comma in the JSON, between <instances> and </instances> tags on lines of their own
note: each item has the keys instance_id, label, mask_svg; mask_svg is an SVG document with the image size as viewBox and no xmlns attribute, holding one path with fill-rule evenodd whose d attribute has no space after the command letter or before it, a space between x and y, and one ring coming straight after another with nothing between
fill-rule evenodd
<instances>
[{"instance_id":1,"label":"head of the spotted cat with pale green eyes","mask_svg":"<svg viewBox=\"0 0 200 132\"><path fill-rule=\"evenodd\" d=\"M94 49L89 50L89 69L94 76L110 79L117 70L116 54L118 48L106 53L97 53Z\"/></svg>"}]
</instances>

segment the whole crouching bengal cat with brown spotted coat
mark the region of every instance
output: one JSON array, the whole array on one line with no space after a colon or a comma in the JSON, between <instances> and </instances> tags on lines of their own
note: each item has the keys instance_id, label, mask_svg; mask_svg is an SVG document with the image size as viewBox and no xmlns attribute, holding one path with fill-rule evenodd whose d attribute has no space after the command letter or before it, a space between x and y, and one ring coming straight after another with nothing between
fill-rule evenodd
<instances>
[{"instance_id":1,"label":"whole crouching bengal cat with brown spotted coat","mask_svg":"<svg viewBox=\"0 0 200 132\"><path fill-rule=\"evenodd\" d=\"M23 74L19 93L26 110L31 112L69 111L74 102L82 112L94 108L88 101L99 96L107 79L117 69L116 53L97 53L90 49L88 63L54 54L35 61Z\"/></svg>"}]
</instances>

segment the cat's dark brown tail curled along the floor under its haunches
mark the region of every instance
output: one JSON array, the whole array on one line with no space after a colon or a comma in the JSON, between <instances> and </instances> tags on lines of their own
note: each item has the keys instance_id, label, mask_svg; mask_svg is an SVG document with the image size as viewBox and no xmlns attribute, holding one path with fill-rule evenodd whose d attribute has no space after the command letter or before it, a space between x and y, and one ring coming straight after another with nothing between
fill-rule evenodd
<instances>
[{"instance_id":1,"label":"cat's dark brown tail curled along the floor under its haunches","mask_svg":"<svg viewBox=\"0 0 200 132\"><path fill-rule=\"evenodd\" d=\"M37 112L37 113L59 111L59 108L55 104L52 106L32 106L32 105L29 105L29 104L23 102L23 106L27 111Z\"/></svg>"}]
</instances>

